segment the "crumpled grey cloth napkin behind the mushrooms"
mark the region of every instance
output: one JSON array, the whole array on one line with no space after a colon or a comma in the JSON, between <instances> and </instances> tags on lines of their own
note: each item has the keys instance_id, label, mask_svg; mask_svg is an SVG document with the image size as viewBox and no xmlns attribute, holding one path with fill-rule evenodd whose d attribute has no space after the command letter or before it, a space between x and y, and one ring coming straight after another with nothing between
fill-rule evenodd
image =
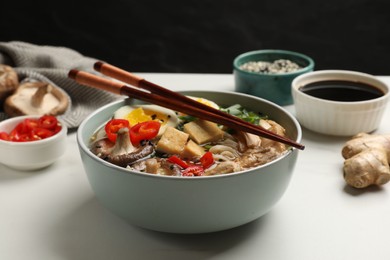
<instances>
[{"instance_id":1,"label":"crumpled grey cloth napkin behind the mushrooms","mask_svg":"<svg viewBox=\"0 0 390 260\"><path fill-rule=\"evenodd\" d=\"M70 106L65 114L59 116L69 128L78 127L91 112L121 98L79 85L68 78L70 69L96 73L93 70L96 61L65 47L0 42L0 63L13 67L21 81L45 81L62 88L69 95ZM7 116L0 110L0 120L4 120Z\"/></svg>"}]
</instances>

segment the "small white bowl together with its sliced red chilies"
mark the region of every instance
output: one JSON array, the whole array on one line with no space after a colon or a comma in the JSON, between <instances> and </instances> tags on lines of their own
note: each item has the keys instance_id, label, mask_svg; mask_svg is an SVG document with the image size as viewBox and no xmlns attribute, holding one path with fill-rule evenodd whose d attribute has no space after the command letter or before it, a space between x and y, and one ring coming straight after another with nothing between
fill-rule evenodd
<instances>
[{"instance_id":1,"label":"small white bowl together with its sliced red chilies","mask_svg":"<svg viewBox=\"0 0 390 260\"><path fill-rule=\"evenodd\" d=\"M54 163L66 150L67 127L54 116L18 116L0 122L0 163L36 170Z\"/></svg>"}]
</instances>

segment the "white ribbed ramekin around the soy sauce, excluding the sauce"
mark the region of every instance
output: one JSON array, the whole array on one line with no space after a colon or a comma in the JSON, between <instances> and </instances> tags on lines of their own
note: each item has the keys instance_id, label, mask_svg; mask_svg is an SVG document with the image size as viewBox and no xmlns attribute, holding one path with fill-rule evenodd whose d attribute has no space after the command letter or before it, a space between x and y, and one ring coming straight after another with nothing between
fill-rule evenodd
<instances>
[{"instance_id":1,"label":"white ribbed ramekin around the soy sauce, excluding the sauce","mask_svg":"<svg viewBox=\"0 0 390 260\"><path fill-rule=\"evenodd\" d=\"M307 84L342 80L371 85L383 95L364 101L332 101L313 97L300 89ZM353 136L372 132L382 120L390 94L389 87L375 76L347 70L322 70L303 74L292 82L296 117L302 126L317 133Z\"/></svg>"}]
</instances>

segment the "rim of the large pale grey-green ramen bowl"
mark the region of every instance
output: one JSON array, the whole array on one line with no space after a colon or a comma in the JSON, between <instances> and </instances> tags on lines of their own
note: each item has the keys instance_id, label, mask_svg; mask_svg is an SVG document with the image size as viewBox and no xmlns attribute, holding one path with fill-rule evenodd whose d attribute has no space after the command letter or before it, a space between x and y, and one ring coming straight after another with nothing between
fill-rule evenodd
<instances>
[{"instance_id":1,"label":"rim of the large pale grey-green ramen bowl","mask_svg":"<svg viewBox=\"0 0 390 260\"><path fill-rule=\"evenodd\" d=\"M261 102L264 102L264 103L267 103L271 106L274 106L275 108L278 108L279 110L281 110L283 113L285 113L289 119L293 122L295 128L296 128L296 131L297 131L297 137L295 138L297 142L300 142L301 139L302 139L302 128L298 122L298 120L289 112L287 111L286 109L284 109L283 107L271 102L271 101L268 101L268 100L265 100L265 99L262 99L262 98L259 98L259 97L255 97L255 96L251 96L251 95L248 95L248 94L244 94L244 93L237 93L237 92L232 92L232 91L212 91L212 90L185 90L185 91L180 91L180 93L188 93L188 92L191 92L191 93L194 93L194 92L199 92L199 93L221 93L221 94L234 94L234 95L239 95L239 96L244 96L244 97L248 97L248 98L252 98L252 99L257 99ZM121 99L121 100L117 100L117 101L114 101L114 102L111 102L109 104L106 104L102 107L100 107L99 109L95 110L94 112L92 112L90 115L88 115L88 117L86 117L80 124L79 128L77 129L77 136L76 136L76 140L77 140L77 143L78 143L78 146L79 148L82 149L82 151L87 155L89 156L90 158L92 158L93 160L99 162L99 163L102 163L105 167L109 167L109 168L113 168L113 169L116 169L116 170L119 170L121 173L124 173L124 174L135 174L135 175L138 175L138 176L142 176L142 177L145 177L145 178L163 178L163 179L174 179L174 180L183 180L183 181L188 181L188 180L207 180L207 179L214 179L214 178L231 178L231 177L234 177L234 176L238 176L238 175L241 175L241 174L248 174L248 173L251 173L251 172L254 172L260 168L265 168L265 167L268 167L276 162L278 162L279 160L282 160L284 159L285 157L291 155L294 151L297 152L298 150L294 147L289 147L288 150L283 154L281 155L280 157L276 158L275 160L272 160L266 164L263 164L263 165L259 165L257 167L254 167L254 168L250 168L250 169L247 169L247 170L243 170L243 171L238 171L238 172L233 172L233 173L229 173L229 174L220 174L220 175L211 175L211 176L197 176L195 178L186 178L186 177L183 177L183 176L166 176L166 175L157 175L157 174L148 174L148 173L144 173L144 172L138 172L138 171L131 171L131 170L127 170L123 167L120 167L120 166L117 166L117 165L114 165L112 163L109 163L97 156L95 156L87 147L87 145L84 143L83 141L83 134L82 134L82 130L84 129L85 125L88 123L88 121L94 117L96 114L100 113L101 111L107 109L108 107L111 107L111 106L115 106L116 104L118 103L123 103L125 102L126 99ZM107 119L108 120L108 119Z\"/></svg>"}]
</instances>

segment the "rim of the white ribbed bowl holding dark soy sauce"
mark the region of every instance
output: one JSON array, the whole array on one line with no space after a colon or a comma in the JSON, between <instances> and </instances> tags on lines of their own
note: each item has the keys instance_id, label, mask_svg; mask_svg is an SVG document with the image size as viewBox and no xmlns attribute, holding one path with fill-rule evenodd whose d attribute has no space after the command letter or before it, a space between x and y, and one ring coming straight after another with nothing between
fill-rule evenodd
<instances>
[{"instance_id":1,"label":"rim of the white ribbed bowl holding dark soy sauce","mask_svg":"<svg viewBox=\"0 0 390 260\"><path fill-rule=\"evenodd\" d=\"M375 83L382 85L386 89L386 92L384 93L383 96L380 96L380 97L374 98L374 99L361 100L361 101L336 101L336 100L329 100L329 99L324 99L324 98L313 97L309 94L306 94L302 91L299 91L299 88L301 88L303 86L303 84L298 85L297 82L300 81L302 78L315 77L315 76L328 76L328 75L329 76L334 75L334 80L337 80L337 77L339 75L358 76L361 78L367 78L371 81L375 81ZM316 82L316 81L323 81L323 80L324 79L322 79L322 80L314 80L313 79L313 80L310 80L310 83ZM360 71L353 71L353 70L317 70L317 71L308 72L308 73L299 75L298 77L293 79L293 81L291 82L291 89L292 89L292 92L295 93L296 95L300 95L300 96L305 97L306 99L311 99L313 101L319 101L319 102L323 102L325 104L331 104L331 105L354 106L354 105L362 105L362 104L381 102L384 99L390 98L390 87L384 81L378 79L374 75L360 72Z\"/></svg>"}]
</instances>

